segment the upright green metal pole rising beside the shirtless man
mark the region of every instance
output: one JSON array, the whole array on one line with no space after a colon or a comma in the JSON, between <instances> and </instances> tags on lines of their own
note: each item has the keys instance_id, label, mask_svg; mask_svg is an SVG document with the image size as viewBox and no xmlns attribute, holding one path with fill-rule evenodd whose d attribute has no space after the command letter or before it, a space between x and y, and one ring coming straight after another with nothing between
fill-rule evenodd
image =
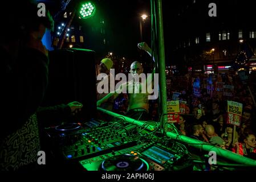
<instances>
[{"instance_id":1,"label":"upright green metal pole rising beside the shirtless man","mask_svg":"<svg viewBox=\"0 0 256 182\"><path fill-rule=\"evenodd\" d=\"M164 24L162 22L162 2L156 1L156 32L157 32L157 55L159 55L159 90L161 103L161 126L167 121L167 97L166 97L166 77L165 77L165 52L164 52Z\"/></svg>"}]
</instances>

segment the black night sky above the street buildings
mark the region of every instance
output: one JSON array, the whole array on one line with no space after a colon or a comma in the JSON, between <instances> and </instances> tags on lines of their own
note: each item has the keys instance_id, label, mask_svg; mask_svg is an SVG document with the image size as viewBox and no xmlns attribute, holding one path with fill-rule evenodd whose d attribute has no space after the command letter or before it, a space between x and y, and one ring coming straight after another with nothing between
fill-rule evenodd
<instances>
[{"instance_id":1,"label":"black night sky above the street buildings","mask_svg":"<svg viewBox=\"0 0 256 182\"><path fill-rule=\"evenodd\" d=\"M60 10L61 1L46 1L56 10ZM55 3L52 3L55 2ZM74 6L81 0L71 0L67 9L74 9ZM137 43L140 42L139 23L140 15L145 13L151 15L150 0L100 0L92 1L99 3L97 13L103 13L109 21L109 51L119 56L136 59L140 55ZM194 3L196 2L196 3ZM218 16L209 18L208 5L214 2L217 4ZM214 0L208 1L169 1L162 0L162 17L164 20L165 57L166 62L172 59L172 53L178 42L185 39L184 36L196 35L198 32L209 31L211 28L222 28L225 26L238 27L253 23L253 1L241 0ZM248 14L245 17L244 15ZM211 24L217 27L211 27ZM190 34L190 35L189 35ZM151 45L151 17L143 23L143 41Z\"/></svg>"}]
</instances>

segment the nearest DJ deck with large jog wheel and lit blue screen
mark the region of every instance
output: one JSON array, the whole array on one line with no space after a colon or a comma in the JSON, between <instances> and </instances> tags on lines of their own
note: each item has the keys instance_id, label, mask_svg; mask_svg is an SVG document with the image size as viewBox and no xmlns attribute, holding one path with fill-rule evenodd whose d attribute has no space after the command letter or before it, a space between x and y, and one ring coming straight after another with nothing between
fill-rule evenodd
<instances>
[{"instance_id":1,"label":"nearest DJ deck with large jog wheel and lit blue screen","mask_svg":"<svg viewBox=\"0 0 256 182\"><path fill-rule=\"evenodd\" d=\"M80 160L79 163L87 171L192 171L192 165L184 159L184 155L150 142Z\"/></svg>"}]
</instances>

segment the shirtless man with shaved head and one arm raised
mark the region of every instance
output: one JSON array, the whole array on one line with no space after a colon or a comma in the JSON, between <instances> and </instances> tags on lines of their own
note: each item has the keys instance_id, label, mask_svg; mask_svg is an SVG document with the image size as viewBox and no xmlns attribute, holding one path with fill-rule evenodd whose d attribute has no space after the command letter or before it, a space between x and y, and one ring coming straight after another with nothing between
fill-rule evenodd
<instances>
[{"instance_id":1,"label":"shirtless man with shaved head and one arm raised","mask_svg":"<svg viewBox=\"0 0 256 182\"><path fill-rule=\"evenodd\" d=\"M146 43L139 43L138 47L140 49L143 49L144 51L148 52L149 55L151 55L151 48L148 47ZM143 73L143 67L138 61L134 61L131 64L131 74L133 76L133 79L125 82L124 84L120 85L119 89L115 91L115 93L109 93L107 96L102 98L101 100L97 101L97 106L100 106L105 101L107 101L109 98L112 97L112 99L115 99L119 93L123 92L123 89L126 89L128 91L128 112L127 116L133 119L141 120L141 121L147 121L148 120L148 110L149 110L149 102L148 102L148 90L146 89L146 92L141 92L141 85L145 84L141 82L140 79L137 79L138 75ZM137 75L136 75L137 74ZM152 75L148 76L148 79L151 79ZM146 80L144 80L146 81ZM147 81L146 81L147 82ZM152 82L153 83L153 82ZM151 83L151 84L152 84ZM148 85L147 85L148 86ZM151 85L149 85L151 86ZM131 88L139 88L139 93L129 92Z\"/></svg>"}]
</instances>

